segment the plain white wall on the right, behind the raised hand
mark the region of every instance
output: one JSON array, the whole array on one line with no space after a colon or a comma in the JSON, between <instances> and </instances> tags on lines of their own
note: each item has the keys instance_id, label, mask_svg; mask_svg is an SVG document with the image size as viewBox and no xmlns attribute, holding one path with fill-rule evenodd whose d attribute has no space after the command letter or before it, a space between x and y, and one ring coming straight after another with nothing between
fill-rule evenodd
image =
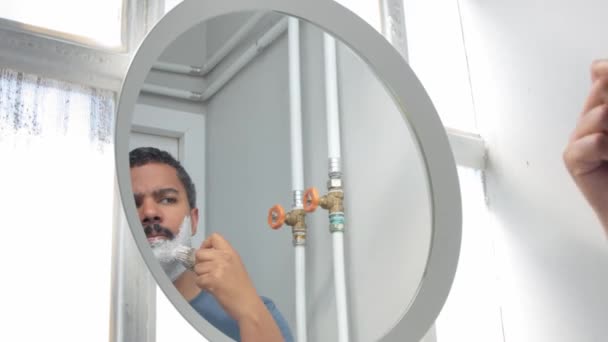
<instances>
[{"instance_id":1,"label":"plain white wall on the right, behind the raised hand","mask_svg":"<svg viewBox=\"0 0 608 342\"><path fill-rule=\"evenodd\" d=\"M608 246L561 154L608 56L608 2L462 1L505 341L608 338Z\"/></svg>"}]
</instances>

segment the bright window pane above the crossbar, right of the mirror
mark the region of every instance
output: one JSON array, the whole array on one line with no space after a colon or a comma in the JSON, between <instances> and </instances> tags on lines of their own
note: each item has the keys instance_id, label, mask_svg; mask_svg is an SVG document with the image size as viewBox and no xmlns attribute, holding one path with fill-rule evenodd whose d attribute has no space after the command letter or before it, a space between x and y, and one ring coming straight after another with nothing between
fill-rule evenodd
<instances>
[{"instance_id":1,"label":"bright window pane above the crossbar, right of the mirror","mask_svg":"<svg viewBox=\"0 0 608 342\"><path fill-rule=\"evenodd\" d=\"M409 63L446 127L477 132L455 0L404 0Z\"/></svg>"}]
</instances>

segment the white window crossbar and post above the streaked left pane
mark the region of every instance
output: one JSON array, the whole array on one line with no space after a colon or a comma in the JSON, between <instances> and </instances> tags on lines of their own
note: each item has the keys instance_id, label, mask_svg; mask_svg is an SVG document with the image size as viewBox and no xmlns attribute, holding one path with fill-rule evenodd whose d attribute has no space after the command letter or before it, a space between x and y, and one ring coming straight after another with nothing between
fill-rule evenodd
<instances>
[{"instance_id":1,"label":"white window crossbar and post above the streaked left pane","mask_svg":"<svg viewBox=\"0 0 608 342\"><path fill-rule=\"evenodd\" d=\"M123 0L122 47L0 18L3 67L118 92L132 55L164 15L164 0Z\"/></svg>"}]
</instances>

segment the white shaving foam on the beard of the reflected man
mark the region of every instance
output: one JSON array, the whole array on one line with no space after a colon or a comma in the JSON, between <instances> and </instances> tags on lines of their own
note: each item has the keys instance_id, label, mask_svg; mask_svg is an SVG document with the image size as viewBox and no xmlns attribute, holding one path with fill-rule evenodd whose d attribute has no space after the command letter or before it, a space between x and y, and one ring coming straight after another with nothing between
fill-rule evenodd
<instances>
[{"instance_id":1,"label":"white shaving foam on the beard of the reflected man","mask_svg":"<svg viewBox=\"0 0 608 342\"><path fill-rule=\"evenodd\" d=\"M178 234L173 239L162 240L150 245L154 256L172 282L186 271L186 267L177 259L175 252L179 246L192 246L191 229L190 216L186 216Z\"/></svg>"}]
</instances>

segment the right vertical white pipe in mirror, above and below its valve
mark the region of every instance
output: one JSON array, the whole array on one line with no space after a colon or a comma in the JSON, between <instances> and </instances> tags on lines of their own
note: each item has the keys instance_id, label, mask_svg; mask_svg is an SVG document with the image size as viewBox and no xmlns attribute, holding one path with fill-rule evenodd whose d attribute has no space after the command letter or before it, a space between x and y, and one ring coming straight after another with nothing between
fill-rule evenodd
<instances>
[{"instance_id":1,"label":"right vertical white pipe in mirror, above and below its valve","mask_svg":"<svg viewBox=\"0 0 608 342\"><path fill-rule=\"evenodd\" d=\"M338 97L338 70L336 60L336 41L324 34L325 53L325 92L327 110L327 142L329 154L329 174L341 175L340 169L340 116ZM344 269L344 233L332 233L334 287L338 315L338 340L348 342L348 303L346 300L346 275Z\"/></svg>"}]
</instances>

